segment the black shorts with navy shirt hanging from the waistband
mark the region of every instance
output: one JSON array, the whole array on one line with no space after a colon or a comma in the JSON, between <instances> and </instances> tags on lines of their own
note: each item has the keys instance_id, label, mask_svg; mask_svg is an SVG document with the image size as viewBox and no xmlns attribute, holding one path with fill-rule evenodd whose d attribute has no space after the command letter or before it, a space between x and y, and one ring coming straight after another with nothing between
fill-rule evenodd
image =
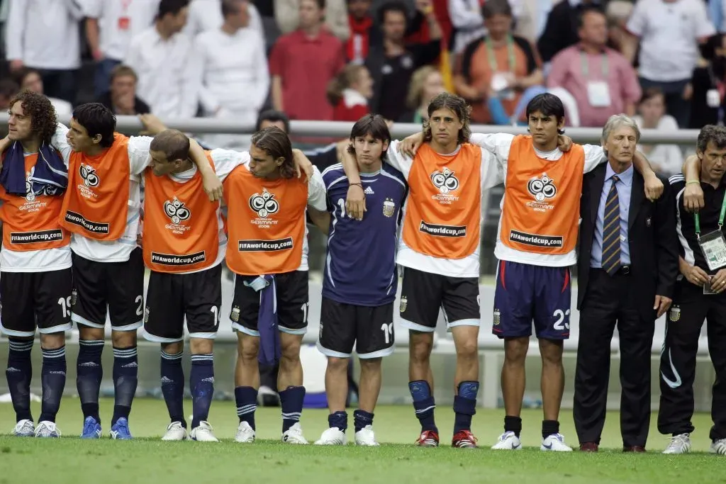
<instances>
[{"instance_id":1,"label":"black shorts with navy shirt hanging from the waistband","mask_svg":"<svg viewBox=\"0 0 726 484\"><path fill-rule=\"evenodd\" d=\"M308 330L308 271L292 271L275 274L277 291L277 327L290 335L304 335ZM234 276L234 299L229 319L232 329L245 335L259 336L257 319L260 311L260 294L245 282L256 276Z\"/></svg>"}]
</instances>

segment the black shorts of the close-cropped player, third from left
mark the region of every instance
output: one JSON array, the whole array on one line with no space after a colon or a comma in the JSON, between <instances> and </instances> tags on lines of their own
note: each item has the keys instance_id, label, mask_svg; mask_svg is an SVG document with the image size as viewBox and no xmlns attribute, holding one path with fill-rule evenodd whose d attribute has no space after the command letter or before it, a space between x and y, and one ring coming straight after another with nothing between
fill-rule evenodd
<instances>
[{"instance_id":1,"label":"black shorts of the close-cropped player, third from left","mask_svg":"<svg viewBox=\"0 0 726 484\"><path fill-rule=\"evenodd\" d=\"M156 343L184 340L184 316L189 337L213 340L222 305L222 266L191 274L151 271L144 310L144 338Z\"/></svg>"}]
</instances>

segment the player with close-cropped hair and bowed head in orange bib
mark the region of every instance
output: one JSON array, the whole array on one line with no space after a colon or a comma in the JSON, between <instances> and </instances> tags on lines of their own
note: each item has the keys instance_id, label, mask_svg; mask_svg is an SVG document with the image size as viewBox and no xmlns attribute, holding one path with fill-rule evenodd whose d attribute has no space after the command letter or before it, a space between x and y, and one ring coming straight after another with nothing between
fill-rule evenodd
<instances>
[{"instance_id":1,"label":"player with close-cropped hair and bowed head in orange bib","mask_svg":"<svg viewBox=\"0 0 726 484\"><path fill-rule=\"evenodd\" d=\"M217 442L207 421L214 393L213 343L219 329L221 263L227 236L219 201L210 201L190 157L190 141L167 129L150 144L144 173L144 263L150 269L144 337L161 345L161 389L171 423L162 440L187 438L184 419L184 319L189 329L192 370L192 440ZM249 162L247 153L206 152L221 180Z\"/></svg>"}]
</instances>

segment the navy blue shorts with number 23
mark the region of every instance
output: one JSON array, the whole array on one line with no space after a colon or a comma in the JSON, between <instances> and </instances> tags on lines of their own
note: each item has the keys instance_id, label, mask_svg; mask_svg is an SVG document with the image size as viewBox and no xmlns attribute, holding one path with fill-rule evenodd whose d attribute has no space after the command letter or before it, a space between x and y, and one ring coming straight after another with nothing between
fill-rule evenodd
<instances>
[{"instance_id":1,"label":"navy blue shorts with number 23","mask_svg":"<svg viewBox=\"0 0 726 484\"><path fill-rule=\"evenodd\" d=\"M500 338L570 337L570 268L499 261L492 333Z\"/></svg>"}]
</instances>

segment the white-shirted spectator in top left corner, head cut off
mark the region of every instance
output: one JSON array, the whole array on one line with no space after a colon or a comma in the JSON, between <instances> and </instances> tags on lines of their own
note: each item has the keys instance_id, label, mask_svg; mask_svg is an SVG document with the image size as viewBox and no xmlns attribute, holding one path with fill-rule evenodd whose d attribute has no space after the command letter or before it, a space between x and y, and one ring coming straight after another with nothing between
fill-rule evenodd
<instances>
[{"instance_id":1,"label":"white-shirted spectator in top left corner, head cut off","mask_svg":"<svg viewBox=\"0 0 726 484\"><path fill-rule=\"evenodd\" d=\"M5 45L10 70L35 67L46 94L73 103L76 70L81 67L77 0L9 0Z\"/></svg>"}]
</instances>

